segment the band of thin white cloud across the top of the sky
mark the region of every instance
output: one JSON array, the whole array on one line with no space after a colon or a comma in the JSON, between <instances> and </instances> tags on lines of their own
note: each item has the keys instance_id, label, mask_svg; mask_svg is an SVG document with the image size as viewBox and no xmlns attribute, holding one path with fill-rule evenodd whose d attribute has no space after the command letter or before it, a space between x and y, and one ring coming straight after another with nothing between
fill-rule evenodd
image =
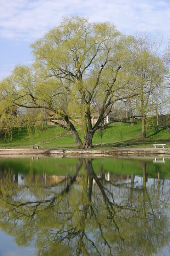
<instances>
[{"instance_id":1,"label":"band of thin white cloud across the top of the sky","mask_svg":"<svg viewBox=\"0 0 170 256\"><path fill-rule=\"evenodd\" d=\"M120 30L159 29L168 33L170 3L159 0L1 0L0 36L33 41L63 16L112 21Z\"/></svg>"}]
</instances>

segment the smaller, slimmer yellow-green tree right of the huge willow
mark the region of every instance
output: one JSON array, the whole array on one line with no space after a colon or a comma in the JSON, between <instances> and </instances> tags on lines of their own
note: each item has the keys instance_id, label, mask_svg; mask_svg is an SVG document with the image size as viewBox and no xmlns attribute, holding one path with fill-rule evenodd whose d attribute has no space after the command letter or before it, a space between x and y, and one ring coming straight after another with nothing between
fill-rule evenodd
<instances>
[{"instance_id":1,"label":"smaller, slimmer yellow-green tree right of the huge willow","mask_svg":"<svg viewBox=\"0 0 170 256\"><path fill-rule=\"evenodd\" d=\"M164 76L168 71L161 55L161 47L162 41L157 33L136 33L129 72L131 86L137 95L134 98L135 109L142 116L142 138L146 138L146 118L151 106L153 107L153 98L158 116L158 88L162 89Z\"/></svg>"}]
</instances>

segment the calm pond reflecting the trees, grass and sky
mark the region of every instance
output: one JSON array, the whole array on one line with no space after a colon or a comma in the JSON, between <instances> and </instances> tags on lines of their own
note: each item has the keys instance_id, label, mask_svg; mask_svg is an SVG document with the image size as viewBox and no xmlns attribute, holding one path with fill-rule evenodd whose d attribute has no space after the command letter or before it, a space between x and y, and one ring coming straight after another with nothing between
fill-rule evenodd
<instances>
[{"instance_id":1,"label":"calm pond reflecting the trees, grass and sky","mask_svg":"<svg viewBox=\"0 0 170 256\"><path fill-rule=\"evenodd\" d=\"M0 158L1 256L168 256L169 245L169 158Z\"/></svg>"}]
</instances>

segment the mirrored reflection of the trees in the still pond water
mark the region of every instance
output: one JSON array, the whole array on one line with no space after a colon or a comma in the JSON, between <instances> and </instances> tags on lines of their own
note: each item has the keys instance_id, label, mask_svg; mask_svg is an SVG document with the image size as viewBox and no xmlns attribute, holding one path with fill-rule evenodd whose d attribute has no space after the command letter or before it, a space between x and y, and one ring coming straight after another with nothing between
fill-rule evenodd
<instances>
[{"instance_id":1,"label":"mirrored reflection of the trees in the still pond water","mask_svg":"<svg viewBox=\"0 0 170 256\"><path fill-rule=\"evenodd\" d=\"M168 206L162 202L160 213L159 191L146 187L142 166L136 189L135 175L130 186L97 176L92 159L79 159L60 191L38 186L31 175L34 186L18 187L9 171L0 183L0 227L20 246L34 242L38 256L160 255L170 239Z\"/></svg>"}]
</instances>

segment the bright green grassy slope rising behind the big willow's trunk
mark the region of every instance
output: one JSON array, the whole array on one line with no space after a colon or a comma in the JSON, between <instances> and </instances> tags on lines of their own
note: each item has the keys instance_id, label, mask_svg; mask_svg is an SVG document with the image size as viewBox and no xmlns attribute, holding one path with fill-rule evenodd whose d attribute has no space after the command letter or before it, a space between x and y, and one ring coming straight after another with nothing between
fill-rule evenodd
<instances>
[{"instance_id":1,"label":"bright green grassy slope rising behind the big willow's trunk","mask_svg":"<svg viewBox=\"0 0 170 256\"><path fill-rule=\"evenodd\" d=\"M31 132L30 132L31 131ZM45 129L28 129L26 127L12 130L12 140L5 136L0 137L0 148L30 148L30 145L40 145L40 148L77 148L71 133L58 126L46 126ZM81 130L78 131L82 137ZM135 126L129 123L114 123L106 128L103 134L103 147L101 138L96 132L93 145L96 149L107 149L116 146L134 148L153 148L154 143L164 143L170 148L170 132L166 127L156 128L148 124L146 139L141 139L141 122Z\"/></svg>"}]
</instances>

